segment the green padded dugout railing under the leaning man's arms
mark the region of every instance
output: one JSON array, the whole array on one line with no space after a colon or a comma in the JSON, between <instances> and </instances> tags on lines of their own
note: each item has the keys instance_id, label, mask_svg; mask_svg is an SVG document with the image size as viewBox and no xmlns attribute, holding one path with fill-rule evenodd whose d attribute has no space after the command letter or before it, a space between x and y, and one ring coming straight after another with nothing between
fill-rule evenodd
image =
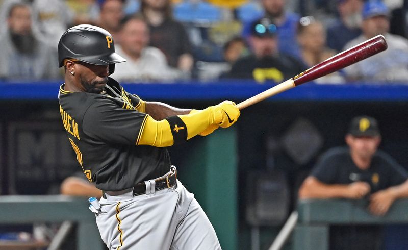
<instances>
[{"instance_id":1,"label":"green padded dugout railing under the leaning man's arms","mask_svg":"<svg viewBox=\"0 0 408 250\"><path fill-rule=\"evenodd\" d=\"M384 216L367 211L367 201L346 199L310 199L299 201L293 249L326 250L329 248L330 224L399 224L408 223L408 199L397 200Z\"/></svg>"}]
</instances>

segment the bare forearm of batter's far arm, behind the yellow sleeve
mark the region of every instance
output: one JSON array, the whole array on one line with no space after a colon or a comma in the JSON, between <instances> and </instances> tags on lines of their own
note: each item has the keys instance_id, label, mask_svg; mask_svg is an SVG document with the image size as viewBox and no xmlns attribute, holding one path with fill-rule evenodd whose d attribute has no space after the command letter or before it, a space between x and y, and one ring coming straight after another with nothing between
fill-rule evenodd
<instances>
[{"instance_id":1,"label":"bare forearm of batter's far arm, behind the yellow sleeve","mask_svg":"<svg viewBox=\"0 0 408 250\"><path fill-rule=\"evenodd\" d=\"M189 114L191 109L179 109L160 102L146 102L146 114L155 120L163 120L169 116Z\"/></svg>"}]
</instances>

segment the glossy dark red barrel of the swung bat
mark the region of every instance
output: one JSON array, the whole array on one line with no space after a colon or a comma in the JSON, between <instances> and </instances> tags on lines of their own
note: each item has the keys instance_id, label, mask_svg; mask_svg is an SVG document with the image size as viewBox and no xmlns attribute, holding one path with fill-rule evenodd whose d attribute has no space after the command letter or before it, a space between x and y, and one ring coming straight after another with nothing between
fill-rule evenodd
<instances>
[{"instance_id":1,"label":"glossy dark red barrel of the swung bat","mask_svg":"<svg viewBox=\"0 0 408 250\"><path fill-rule=\"evenodd\" d=\"M353 63L371 57L381 51L385 51L387 47L388 45L384 36L375 36L303 71L293 78L293 82L295 86L297 86L305 82L313 81L326 74L333 73Z\"/></svg>"}]
</instances>

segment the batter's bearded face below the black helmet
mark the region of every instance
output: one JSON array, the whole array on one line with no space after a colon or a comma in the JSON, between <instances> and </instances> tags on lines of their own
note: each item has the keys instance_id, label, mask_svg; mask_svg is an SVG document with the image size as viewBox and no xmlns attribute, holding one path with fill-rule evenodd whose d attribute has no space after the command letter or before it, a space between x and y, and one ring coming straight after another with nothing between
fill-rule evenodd
<instances>
[{"instance_id":1,"label":"batter's bearded face below the black helmet","mask_svg":"<svg viewBox=\"0 0 408 250\"><path fill-rule=\"evenodd\" d=\"M85 62L75 63L81 87L85 92L100 93L108 82L109 65L93 65Z\"/></svg>"}]
</instances>

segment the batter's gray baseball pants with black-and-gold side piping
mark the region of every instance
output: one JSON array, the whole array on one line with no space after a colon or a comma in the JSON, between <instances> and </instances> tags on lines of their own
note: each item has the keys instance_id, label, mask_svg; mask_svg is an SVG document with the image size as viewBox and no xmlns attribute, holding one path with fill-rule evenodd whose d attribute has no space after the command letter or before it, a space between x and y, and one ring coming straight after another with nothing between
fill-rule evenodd
<instances>
[{"instance_id":1,"label":"batter's gray baseball pants with black-and-gold side piping","mask_svg":"<svg viewBox=\"0 0 408 250\"><path fill-rule=\"evenodd\" d=\"M110 250L221 249L207 215L180 181L156 192L145 183L146 194L100 199L96 224Z\"/></svg>"}]
</instances>

